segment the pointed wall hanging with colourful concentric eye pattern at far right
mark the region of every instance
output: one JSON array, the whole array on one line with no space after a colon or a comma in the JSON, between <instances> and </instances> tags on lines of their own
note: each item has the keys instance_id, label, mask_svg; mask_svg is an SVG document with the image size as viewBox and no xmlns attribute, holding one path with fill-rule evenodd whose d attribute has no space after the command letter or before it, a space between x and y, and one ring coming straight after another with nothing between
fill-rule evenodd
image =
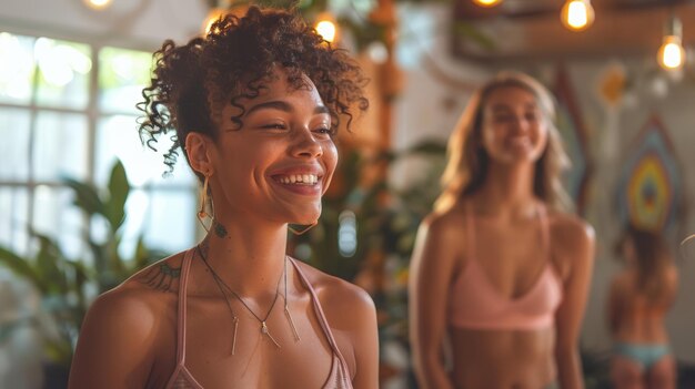
<instances>
[{"instance_id":1,"label":"pointed wall hanging with colourful concentric eye pattern at far right","mask_svg":"<svg viewBox=\"0 0 695 389\"><path fill-rule=\"evenodd\" d=\"M652 231L675 227L682 206L682 175L668 133L653 115L628 149L617 187L623 223Z\"/></svg>"}]
</instances>

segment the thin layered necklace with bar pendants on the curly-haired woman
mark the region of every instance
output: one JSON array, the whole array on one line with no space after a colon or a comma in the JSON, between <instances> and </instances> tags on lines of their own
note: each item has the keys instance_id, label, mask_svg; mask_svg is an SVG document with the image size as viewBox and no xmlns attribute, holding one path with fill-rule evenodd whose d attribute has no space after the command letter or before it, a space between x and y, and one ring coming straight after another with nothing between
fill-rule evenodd
<instances>
[{"instance_id":1,"label":"thin layered necklace with bar pendants on the curly-haired woman","mask_svg":"<svg viewBox=\"0 0 695 389\"><path fill-rule=\"evenodd\" d=\"M253 309L251 309L251 307L249 307L249 305L244 301L243 298L241 298L241 296L239 296L239 294L236 294L229 285L226 285L226 283L224 283L222 277L220 277L218 273L212 268L212 266L210 266L210 264L208 263L208 258L202 254L202 250L199 249L199 253L200 253L201 258L203 259L203 263L205 264L208 269L210 269L210 274L212 275L212 278L214 279L218 287L220 288L220 291L222 293L222 296L224 297L224 300L226 301L228 308L230 309L230 313L232 314L232 317L234 320L234 340L232 344L232 354L234 354L234 347L235 347L235 341L236 341L236 326L238 326L239 319L236 318L236 316L234 315L232 310L231 304L229 299L226 298L226 294L224 293L224 289L226 289L228 293L236 297L236 299L241 301L244 308L246 308L246 310L251 315L253 315L253 317L261 324L261 334L268 336L268 338L275 345L275 347L280 348L280 344L278 342L278 340L275 340L275 338L273 338L272 334L270 332L270 329L268 328L266 321L268 321L268 318L270 317L270 314L273 311L273 307L275 307L275 303L278 301L278 296L280 295L280 280L284 278L284 315L285 315L285 318L288 319L288 323L290 324L290 327L292 328L294 340L295 341L300 340L299 334L294 326L294 320L292 320L292 315L290 314L290 310L288 308L288 257L286 256L284 258L283 276L281 276L278 279L278 286L275 287L275 297L273 298L273 303L271 304L270 309L265 314L265 317L261 318L259 315L256 315L253 311Z\"/></svg>"}]
</instances>

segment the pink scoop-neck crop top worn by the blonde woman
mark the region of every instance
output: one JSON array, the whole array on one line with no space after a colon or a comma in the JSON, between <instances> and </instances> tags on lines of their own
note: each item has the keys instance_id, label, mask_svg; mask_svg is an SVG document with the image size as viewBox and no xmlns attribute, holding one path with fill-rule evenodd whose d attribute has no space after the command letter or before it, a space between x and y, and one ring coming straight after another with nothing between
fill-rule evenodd
<instances>
[{"instance_id":1,"label":"pink scoop-neck crop top worn by the blonde woman","mask_svg":"<svg viewBox=\"0 0 695 389\"><path fill-rule=\"evenodd\" d=\"M541 255L545 266L536 283L516 298L503 296L490 281L475 255L475 218L466 211L466 262L455 277L449 305L451 326L482 330L535 330L553 326L562 301L562 280L553 269L545 208L538 207Z\"/></svg>"}]
</instances>

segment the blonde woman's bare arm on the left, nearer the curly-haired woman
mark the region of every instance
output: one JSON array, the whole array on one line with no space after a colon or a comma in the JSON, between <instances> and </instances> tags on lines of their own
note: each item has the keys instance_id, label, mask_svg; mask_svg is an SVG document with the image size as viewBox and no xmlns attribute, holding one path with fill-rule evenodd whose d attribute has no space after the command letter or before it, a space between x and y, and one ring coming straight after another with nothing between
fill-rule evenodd
<instances>
[{"instance_id":1,"label":"blonde woman's bare arm on the left, nearer the curly-haired woman","mask_svg":"<svg viewBox=\"0 0 695 389\"><path fill-rule=\"evenodd\" d=\"M452 248L456 242L447 240L451 228L440 216L427 217L417 232L411 260L410 338L415 376L423 389L453 388L442 352L449 284L456 257Z\"/></svg>"}]
</instances>

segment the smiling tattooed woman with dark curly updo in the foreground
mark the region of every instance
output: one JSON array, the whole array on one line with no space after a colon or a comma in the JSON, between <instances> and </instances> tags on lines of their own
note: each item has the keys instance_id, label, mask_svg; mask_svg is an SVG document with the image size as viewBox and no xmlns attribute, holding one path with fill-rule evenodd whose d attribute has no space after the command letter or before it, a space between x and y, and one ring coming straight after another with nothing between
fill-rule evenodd
<instances>
[{"instance_id":1,"label":"smiling tattooed woman with dark curly updo in the foreground","mask_svg":"<svg viewBox=\"0 0 695 389\"><path fill-rule=\"evenodd\" d=\"M321 214L339 123L366 109L359 66L255 7L155 58L141 136L175 132L164 163L183 146L212 228L98 298L70 387L376 388L370 297L285 255L288 225Z\"/></svg>"}]
</instances>

